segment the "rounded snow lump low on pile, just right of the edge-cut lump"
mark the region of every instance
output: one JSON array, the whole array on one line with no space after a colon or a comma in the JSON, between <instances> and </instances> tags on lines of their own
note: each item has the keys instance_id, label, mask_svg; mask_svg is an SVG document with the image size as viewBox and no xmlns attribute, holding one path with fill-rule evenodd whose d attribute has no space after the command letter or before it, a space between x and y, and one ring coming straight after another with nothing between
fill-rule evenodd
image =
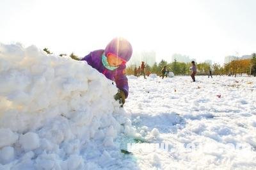
<instances>
[{"instance_id":1,"label":"rounded snow lump low on pile, just right of the edge-cut lump","mask_svg":"<svg viewBox=\"0 0 256 170\"><path fill-rule=\"evenodd\" d=\"M19 143L26 151L35 150L40 146L40 140L38 134L28 132L20 136Z\"/></svg>"}]
</instances>

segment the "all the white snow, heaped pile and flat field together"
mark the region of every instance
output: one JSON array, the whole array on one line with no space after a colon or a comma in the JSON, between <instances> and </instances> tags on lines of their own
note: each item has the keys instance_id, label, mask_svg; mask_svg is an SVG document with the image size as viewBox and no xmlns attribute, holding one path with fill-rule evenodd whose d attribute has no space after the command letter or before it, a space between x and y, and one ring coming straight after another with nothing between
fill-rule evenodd
<instances>
[{"instance_id":1,"label":"all the white snow, heaped pile and flat field together","mask_svg":"<svg viewBox=\"0 0 256 170\"><path fill-rule=\"evenodd\" d=\"M123 109L83 61L0 43L0 169L256 169L255 77L196 79L129 76Z\"/></svg>"}]
</instances>

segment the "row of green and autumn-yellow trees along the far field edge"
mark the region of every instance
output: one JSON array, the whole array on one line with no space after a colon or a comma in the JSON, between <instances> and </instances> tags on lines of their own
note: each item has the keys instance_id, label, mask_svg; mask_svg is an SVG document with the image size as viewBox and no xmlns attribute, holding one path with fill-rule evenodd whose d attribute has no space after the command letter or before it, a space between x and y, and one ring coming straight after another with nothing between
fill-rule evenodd
<instances>
[{"instance_id":1,"label":"row of green and autumn-yellow trees along the far field edge","mask_svg":"<svg viewBox=\"0 0 256 170\"><path fill-rule=\"evenodd\" d=\"M172 71L175 75L189 75L191 63L180 63L173 61L168 63L167 61L161 60L159 63L154 63L153 66L146 65L146 73L156 73L161 75L161 69L166 66L167 70ZM239 59L221 66L218 63L210 65L209 63L196 63L197 75L208 75L209 70L212 70L214 75L234 75L235 77L242 73L256 76L256 54L252 54L252 59ZM127 67L127 74L132 75L134 73L134 65Z\"/></svg>"}]
</instances>

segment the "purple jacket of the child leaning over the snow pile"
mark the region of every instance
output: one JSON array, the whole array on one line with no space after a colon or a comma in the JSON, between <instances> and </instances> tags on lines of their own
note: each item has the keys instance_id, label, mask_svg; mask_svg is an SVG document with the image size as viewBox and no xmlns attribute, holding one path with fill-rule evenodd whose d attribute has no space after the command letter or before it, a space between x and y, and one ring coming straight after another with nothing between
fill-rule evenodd
<instances>
[{"instance_id":1,"label":"purple jacket of the child leaning over the snow pile","mask_svg":"<svg viewBox=\"0 0 256 170\"><path fill-rule=\"evenodd\" d=\"M102 64L102 54L104 50L95 50L90 52L87 56L85 56L82 61L87 61L88 65L97 69L100 73L103 73L108 79L116 82L116 87L125 93L125 97L128 97L129 86L128 80L125 76L125 65L122 64L116 70L108 70Z\"/></svg>"}]
</instances>

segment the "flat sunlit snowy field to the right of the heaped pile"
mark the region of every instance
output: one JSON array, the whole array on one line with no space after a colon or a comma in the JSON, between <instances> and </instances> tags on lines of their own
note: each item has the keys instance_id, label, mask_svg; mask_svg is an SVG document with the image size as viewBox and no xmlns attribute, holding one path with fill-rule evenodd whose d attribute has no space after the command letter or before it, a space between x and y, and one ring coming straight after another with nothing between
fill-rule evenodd
<instances>
[{"instance_id":1,"label":"flat sunlit snowy field to the right of the heaped pile","mask_svg":"<svg viewBox=\"0 0 256 170\"><path fill-rule=\"evenodd\" d=\"M129 87L132 125L169 147L134 148L138 168L256 169L256 77L131 76Z\"/></svg>"}]
</instances>

